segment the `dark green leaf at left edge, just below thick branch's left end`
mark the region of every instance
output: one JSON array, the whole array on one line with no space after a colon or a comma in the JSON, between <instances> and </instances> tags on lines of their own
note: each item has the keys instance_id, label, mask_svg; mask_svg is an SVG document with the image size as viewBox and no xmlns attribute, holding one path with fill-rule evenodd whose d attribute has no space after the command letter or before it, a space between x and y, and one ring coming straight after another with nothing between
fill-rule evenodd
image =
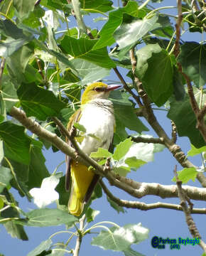
<instances>
[{"instance_id":1,"label":"dark green leaf at left edge, just below thick branch's left end","mask_svg":"<svg viewBox=\"0 0 206 256\"><path fill-rule=\"evenodd\" d=\"M30 161L30 140L24 132L24 127L13 124L11 121L0 124L0 138L4 142L4 154L6 157L22 164Z\"/></svg>"}]
</instances>

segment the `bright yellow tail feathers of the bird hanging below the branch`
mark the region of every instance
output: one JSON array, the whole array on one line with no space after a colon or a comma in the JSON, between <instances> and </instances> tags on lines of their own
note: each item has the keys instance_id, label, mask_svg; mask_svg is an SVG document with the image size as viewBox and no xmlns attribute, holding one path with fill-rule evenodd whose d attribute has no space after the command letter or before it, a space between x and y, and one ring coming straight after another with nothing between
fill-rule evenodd
<instances>
[{"instance_id":1,"label":"bright yellow tail feathers of the bird hanging below the branch","mask_svg":"<svg viewBox=\"0 0 206 256\"><path fill-rule=\"evenodd\" d=\"M94 173L88 171L87 166L80 163L71 162L72 188L68 203L69 211L72 215L80 216L84 209L84 198L92 182Z\"/></svg>"}]
</instances>

